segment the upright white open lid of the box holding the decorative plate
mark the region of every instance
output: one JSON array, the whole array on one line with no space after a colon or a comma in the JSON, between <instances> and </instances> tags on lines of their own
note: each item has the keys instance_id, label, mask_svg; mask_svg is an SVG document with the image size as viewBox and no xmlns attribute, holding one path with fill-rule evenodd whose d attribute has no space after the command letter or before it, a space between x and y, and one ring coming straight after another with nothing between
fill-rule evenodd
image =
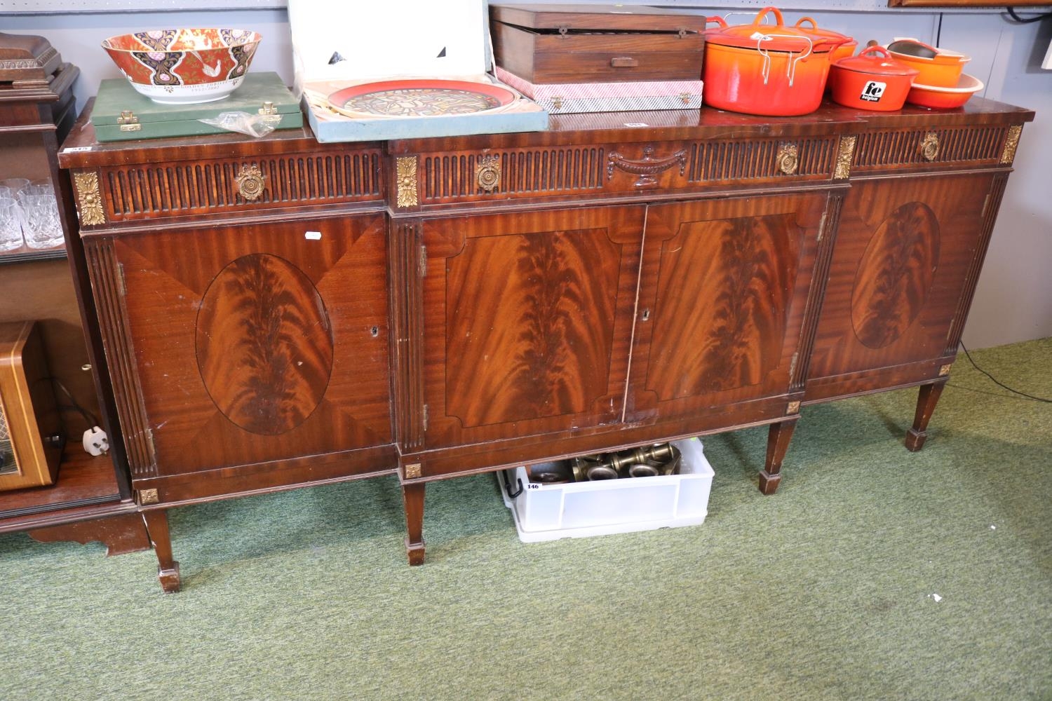
<instances>
[{"instance_id":1,"label":"upright white open lid of the box holding the decorative plate","mask_svg":"<svg viewBox=\"0 0 1052 701\"><path fill-rule=\"evenodd\" d=\"M481 77L485 0L288 0L296 84Z\"/></svg>"}]
</instances>

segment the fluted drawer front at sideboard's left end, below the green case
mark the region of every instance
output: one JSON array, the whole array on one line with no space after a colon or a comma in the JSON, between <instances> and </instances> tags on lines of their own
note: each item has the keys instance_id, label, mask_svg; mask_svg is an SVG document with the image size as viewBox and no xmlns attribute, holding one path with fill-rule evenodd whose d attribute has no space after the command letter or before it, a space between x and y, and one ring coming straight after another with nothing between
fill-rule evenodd
<instances>
[{"instance_id":1,"label":"fluted drawer front at sideboard's left end, below the green case","mask_svg":"<svg viewBox=\"0 0 1052 701\"><path fill-rule=\"evenodd\" d=\"M104 221L379 201L379 149L107 166L98 171ZM84 171L90 172L90 171ZM83 202L83 194L80 195ZM83 221L82 225L92 224Z\"/></svg>"}]
</instances>

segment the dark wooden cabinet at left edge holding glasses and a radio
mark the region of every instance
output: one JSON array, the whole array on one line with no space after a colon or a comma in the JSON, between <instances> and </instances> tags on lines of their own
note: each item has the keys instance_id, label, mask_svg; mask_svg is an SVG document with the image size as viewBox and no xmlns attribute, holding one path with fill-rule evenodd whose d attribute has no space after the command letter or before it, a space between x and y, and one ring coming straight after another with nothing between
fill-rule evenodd
<instances>
[{"instance_id":1,"label":"dark wooden cabinet at left edge holding glasses and a radio","mask_svg":"<svg viewBox=\"0 0 1052 701\"><path fill-rule=\"evenodd\" d=\"M29 359L46 364L65 440L53 483L0 492L0 533L101 541L117 554L145 550L149 542L132 500L82 251L76 234L68 236L75 215L58 147L76 118L73 86L79 73L41 37L0 34L0 180L49 180L67 236L65 245L0 252L0 322L36 322L43 357ZM15 397L7 399L11 411L17 405ZM0 396L0 419L4 400ZM90 456L82 447L84 431L95 425L113 441L108 454ZM0 427L0 437L7 437L6 427ZM18 437L15 442L17 454Z\"/></svg>"}]
</instances>

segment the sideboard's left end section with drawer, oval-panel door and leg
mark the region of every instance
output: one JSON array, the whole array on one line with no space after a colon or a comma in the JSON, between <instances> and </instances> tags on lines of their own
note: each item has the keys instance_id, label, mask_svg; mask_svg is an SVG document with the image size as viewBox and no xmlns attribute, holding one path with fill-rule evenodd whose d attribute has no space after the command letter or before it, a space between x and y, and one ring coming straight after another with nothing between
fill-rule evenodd
<instances>
[{"instance_id":1,"label":"sideboard's left end section with drawer, oval-panel door and leg","mask_svg":"<svg viewBox=\"0 0 1052 701\"><path fill-rule=\"evenodd\" d=\"M165 590L168 508L393 472L377 147L303 129L95 144L86 119L66 145Z\"/></svg>"}]
</instances>

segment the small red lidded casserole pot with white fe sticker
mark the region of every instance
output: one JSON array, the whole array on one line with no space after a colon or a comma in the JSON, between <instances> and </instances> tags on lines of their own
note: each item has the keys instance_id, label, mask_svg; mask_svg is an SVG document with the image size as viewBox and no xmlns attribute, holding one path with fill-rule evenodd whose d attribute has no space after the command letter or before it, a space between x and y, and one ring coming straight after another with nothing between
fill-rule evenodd
<instances>
[{"instance_id":1,"label":"small red lidded casserole pot with white fe sticker","mask_svg":"<svg viewBox=\"0 0 1052 701\"><path fill-rule=\"evenodd\" d=\"M833 101L846 107L892 111L902 109L919 71L891 57L883 46L870 46L841 59L829 71Z\"/></svg>"}]
</instances>

